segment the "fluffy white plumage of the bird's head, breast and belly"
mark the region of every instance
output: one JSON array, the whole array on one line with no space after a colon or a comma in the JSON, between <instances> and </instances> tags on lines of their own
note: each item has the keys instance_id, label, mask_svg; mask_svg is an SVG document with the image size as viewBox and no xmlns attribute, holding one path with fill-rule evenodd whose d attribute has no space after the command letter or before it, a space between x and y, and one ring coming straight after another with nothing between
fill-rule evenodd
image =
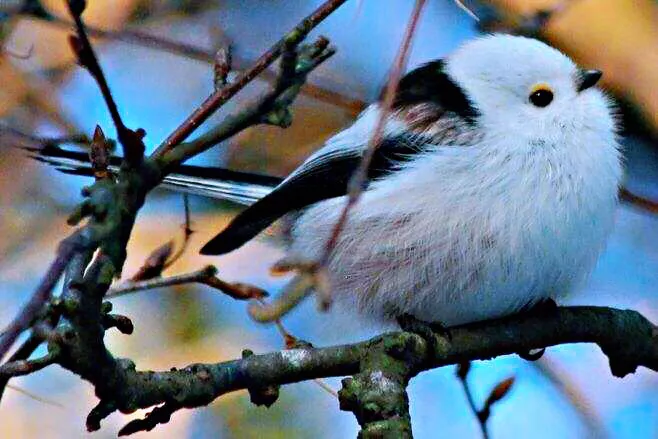
<instances>
[{"instance_id":1,"label":"fluffy white plumage of the bird's head, breast and belly","mask_svg":"<svg viewBox=\"0 0 658 439\"><path fill-rule=\"evenodd\" d=\"M500 317L570 292L603 248L621 164L602 93L577 92L574 63L525 38L476 40L447 66L482 136L436 145L363 194L331 259L339 306L448 326ZM546 108L528 102L537 83L554 91ZM325 148L367 139L377 117L369 108ZM301 215L291 251L318 255L344 203Z\"/></svg>"}]
</instances>

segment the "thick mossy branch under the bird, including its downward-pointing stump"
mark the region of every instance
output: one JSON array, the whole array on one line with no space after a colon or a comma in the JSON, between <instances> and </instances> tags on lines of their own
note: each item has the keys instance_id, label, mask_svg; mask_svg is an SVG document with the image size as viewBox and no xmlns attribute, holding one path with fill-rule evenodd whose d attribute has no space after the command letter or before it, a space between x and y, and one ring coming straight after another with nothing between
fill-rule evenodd
<instances>
[{"instance_id":1,"label":"thick mossy branch under the bird, including its downward-pointing stump","mask_svg":"<svg viewBox=\"0 0 658 439\"><path fill-rule=\"evenodd\" d=\"M94 270L102 271L104 264L98 261ZM81 284L76 300L99 301L100 291L94 285ZM80 306L84 304L80 302ZM100 331L100 322L96 324ZM376 436L386 428L408 431L410 437L406 385L418 373L436 367L557 344L596 343L608 356L615 376L632 373L638 366L658 371L658 327L635 311L605 307L563 307L547 314L465 325L451 329L449 338L437 333L432 349L421 337L400 332L356 344L249 355L164 372L139 371L131 360L113 358L102 343L88 340L89 322L78 318L70 325L57 329L60 341L54 344L55 358L95 386L100 403L89 415L91 430L98 429L101 419L114 411L131 413L164 404L170 415L181 408L207 405L239 389L355 375L344 380L341 408L355 412L364 436L368 437L367 431ZM153 428L168 421L168 416L160 417L163 410L147 415L146 422L133 421L137 424L128 424L123 431L141 431L135 427ZM149 420L150 416L158 422Z\"/></svg>"}]
</instances>

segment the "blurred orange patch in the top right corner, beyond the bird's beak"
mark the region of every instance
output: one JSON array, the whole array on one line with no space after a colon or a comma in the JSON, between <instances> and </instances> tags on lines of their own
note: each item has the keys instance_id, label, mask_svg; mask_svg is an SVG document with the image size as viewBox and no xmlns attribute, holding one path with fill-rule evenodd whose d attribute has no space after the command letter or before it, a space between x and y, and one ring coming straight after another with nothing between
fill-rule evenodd
<instances>
[{"instance_id":1,"label":"blurred orange patch in the top right corner, beyond the bird's beak","mask_svg":"<svg viewBox=\"0 0 658 439\"><path fill-rule=\"evenodd\" d=\"M603 83L637 104L658 132L658 6L651 0L491 0L512 15L564 5L543 32Z\"/></svg>"}]
</instances>

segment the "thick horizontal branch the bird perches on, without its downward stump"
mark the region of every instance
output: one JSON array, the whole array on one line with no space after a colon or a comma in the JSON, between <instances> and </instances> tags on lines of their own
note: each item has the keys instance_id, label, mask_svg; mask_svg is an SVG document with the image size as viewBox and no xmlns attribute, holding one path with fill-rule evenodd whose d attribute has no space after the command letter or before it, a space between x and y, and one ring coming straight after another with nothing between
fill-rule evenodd
<instances>
[{"instance_id":1,"label":"thick horizontal branch the bird perches on, without its downward stump","mask_svg":"<svg viewBox=\"0 0 658 439\"><path fill-rule=\"evenodd\" d=\"M364 359L382 349L417 365L409 377L449 364L583 342L602 348L615 376L634 372L638 366L658 371L658 328L635 311L565 307L550 314L514 316L450 332L450 339L436 335L434 349L428 349L415 335L390 333L351 345L292 349L167 372L137 371L130 360L115 360L106 351L103 361L80 362L78 356L72 356L60 364L96 387L101 403L90 415L90 428L98 428L100 419L114 410L128 413L161 403L198 407L238 389L357 374ZM412 351L407 352L405 346ZM77 351L75 347L70 350ZM67 350L62 352L66 355Z\"/></svg>"}]
</instances>

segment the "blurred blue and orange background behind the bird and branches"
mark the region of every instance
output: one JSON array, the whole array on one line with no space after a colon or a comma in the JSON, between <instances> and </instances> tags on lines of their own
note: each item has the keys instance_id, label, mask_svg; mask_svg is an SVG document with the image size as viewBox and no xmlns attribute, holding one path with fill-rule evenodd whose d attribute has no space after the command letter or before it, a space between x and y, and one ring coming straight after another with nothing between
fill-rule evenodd
<instances>
[{"instance_id":1,"label":"blurred blue and orange background behind the bird and branches","mask_svg":"<svg viewBox=\"0 0 658 439\"><path fill-rule=\"evenodd\" d=\"M84 18L106 35L94 39L120 111L129 127L147 132L153 148L212 91L212 57L230 43L235 67L260 53L310 13L320 0L92 0ZM332 133L352 121L383 85L413 2L352 0L313 33L326 35L338 53L310 77L294 105L287 130L259 127L214 148L196 163L285 176ZM38 136L91 135L99 124L115 135L91 77L77 67L66 43L61 0L0 0L0 322L29 297L56 245L69 229L65 217L80 200L82 177L60 174L14 146ZM484 31L540 36L585 67L605 72L603 87L617 99L624 122L626 185L658 199L658 6L652 0L492 0L467 2L475 22L451 0L429 0L415 38L410 67L439 58ZM143 34L157 37L149 40ZM160 39L160 40L158 40ZM178 42L163 50L163 40ZM210 60L210 61L209 61ZM240 108L268 86L268 78L241 92L213 119ZM204 128L210 126L209 121ZM201 131L203 131L203 129ZM29 143L29 142L27 142ZM198 248L238 212L239 206L192 197L196 233L183 259L167 274L215 264L227 280L276 293L285 279L268 267L281 256L267 240L230 255L202 257ZM182 198L156 190L142 210L124 274L130 276L156 247L180 242ZM658 216L624 205L589 282L569 304L632 308L658 322ZM133 319L135 332L107 333L117 356L141 369L168 369L240 356L244 348L282 347L272 326L250 320L245 303L204 287L140 292L113 300ZM312 300L284 321L296 336L324 346L357 341L374 328L320 314ZM509 376L516 384L495 406L494 438L658 438L658 375L640 369L612 377L593 345L551 348L537 363L516 356L476 362L469 375L481 404ZM96 400L91 386L50 367L11 382L37 396L8 389L0 407L1 437L85 437L84 419ZM336 390L339 380L328 380ZM415 378L409 388L417 438L478 437L479 427L454 367ZM131 417L114 414L96 438L115 437ZM177 412L165 426L139 437L337 438L355 437L358 425L336 399L314 383L282 389L271 408L249 403L246 392L205 408Z\"/></svg>"}]
</instances>

